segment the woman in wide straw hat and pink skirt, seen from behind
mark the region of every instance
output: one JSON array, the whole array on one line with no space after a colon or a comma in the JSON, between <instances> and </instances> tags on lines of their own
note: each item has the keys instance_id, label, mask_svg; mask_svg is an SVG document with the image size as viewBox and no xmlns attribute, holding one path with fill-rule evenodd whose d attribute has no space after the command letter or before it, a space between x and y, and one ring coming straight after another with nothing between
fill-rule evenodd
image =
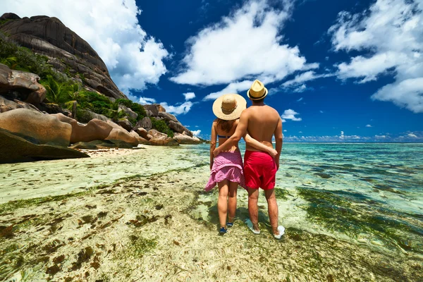
<instances>
[{"instance_id":1,"label":"woman in wide straw hat and pink skirt, seen from behind","mask_svg":"<svg viewBox=\"0 0 423 282\"><path fill-rule=\"evenodd\" d=\"M247 188L245 187L243 173L243 159L238 144L226 152L221 152L216 158L213 157L213 151L216 148L218 138L219 145L221 145L235 133L241 112L246 107L247 102L238 94L225 94L216 99L213 104L213 113L217 118L212 125L210 142L210 178L204 190L212 190L217 183L219 188L217 209L221 226L219 233L221 235L227 232L226 227L233 226L238 185L245 189ZM268 152L272 157L276 156L276 150L254 140L248 133L245 135L245 142L263 152ZM226 223L227 214L228 223Z\"/></svg>"}]
</instances>

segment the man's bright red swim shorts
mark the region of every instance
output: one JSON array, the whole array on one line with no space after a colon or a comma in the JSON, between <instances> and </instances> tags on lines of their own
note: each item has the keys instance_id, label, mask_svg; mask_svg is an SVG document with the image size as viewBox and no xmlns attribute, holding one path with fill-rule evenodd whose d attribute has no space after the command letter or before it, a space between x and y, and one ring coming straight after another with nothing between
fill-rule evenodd
<instances>
[{"instance_id":1,"label":"man's bright red swim shorts","mask_svg":"<svg viewBox=\"0 0 423 282\"><path fill-rule=\"evenodd\" d=\"M269 190L275 188L276 162L264 152L245 151L244 176L247 188Z\"/></svg>"}]
</instances>

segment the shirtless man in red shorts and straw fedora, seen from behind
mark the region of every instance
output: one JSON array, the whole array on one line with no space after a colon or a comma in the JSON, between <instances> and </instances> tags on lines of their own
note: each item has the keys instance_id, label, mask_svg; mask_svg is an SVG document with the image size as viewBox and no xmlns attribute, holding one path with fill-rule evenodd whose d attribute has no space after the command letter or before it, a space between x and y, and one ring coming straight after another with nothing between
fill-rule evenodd
<instances>
[{"instance_id":1,"label":"shirtless man in red shorts and straw fedora, seen from behind","mask_svg":"<svg viewBox=\"0 0 423 282\"><path fill-rule=\"evenodd\" d=\"M252 226L249 227L251 231L255 234L260 233L257 202L259 199L259 188L262 188L267 200L269 219L274 237L280 239L285 228L278 226L278 204L274 187L283 142L282 121L278 111L264 104L264 98L267 93L268 91L262 82L255 80L252 83L250 90L247 91L247 96L252 101L252 106L245 109L241 114L235 133L223 145L214 149L214 156L237 144L246 133L271 148L273 148L271 140L275 136L277 152L275 158L251 147L247 143L244 157L244 174L245 185L248 188L248 212L252 222Z\"/></svg>"}]
</instances>

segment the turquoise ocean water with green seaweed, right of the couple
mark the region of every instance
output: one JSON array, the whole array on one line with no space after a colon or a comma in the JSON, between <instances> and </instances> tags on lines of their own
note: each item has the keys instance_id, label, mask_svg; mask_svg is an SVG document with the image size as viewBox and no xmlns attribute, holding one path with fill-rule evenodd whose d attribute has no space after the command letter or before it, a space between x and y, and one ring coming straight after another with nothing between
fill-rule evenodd
<instances>
[{"instance_id":1,"label":"turquoise ocean water with green seaweed, right of the couple","mask_svg":"<svg viewBox=\"0 0 423 282\"><path fill-rule=\"evenodd\" d=\"M423 144L285 143L275 191L286 227L423 255Z\"/></svg>"}]
</instances>

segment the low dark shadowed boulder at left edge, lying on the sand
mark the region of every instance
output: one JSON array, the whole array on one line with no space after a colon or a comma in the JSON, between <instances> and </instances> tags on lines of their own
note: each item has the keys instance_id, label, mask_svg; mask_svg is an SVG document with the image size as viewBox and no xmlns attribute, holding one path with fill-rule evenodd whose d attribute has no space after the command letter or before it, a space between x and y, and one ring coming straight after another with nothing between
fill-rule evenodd
<instances>
[{"instance_id":1,"label":"low dark shadowed boulder at left edge, lying on the sand","mask_svg":"<svg viewBox=\"0 0 423 282\"><path fill-rule=\"evenodd\" d=\"M0 129L0 163L87 157L90 156L67 147L37 145L7 130Z\"/></svg>"}]
</instances>

